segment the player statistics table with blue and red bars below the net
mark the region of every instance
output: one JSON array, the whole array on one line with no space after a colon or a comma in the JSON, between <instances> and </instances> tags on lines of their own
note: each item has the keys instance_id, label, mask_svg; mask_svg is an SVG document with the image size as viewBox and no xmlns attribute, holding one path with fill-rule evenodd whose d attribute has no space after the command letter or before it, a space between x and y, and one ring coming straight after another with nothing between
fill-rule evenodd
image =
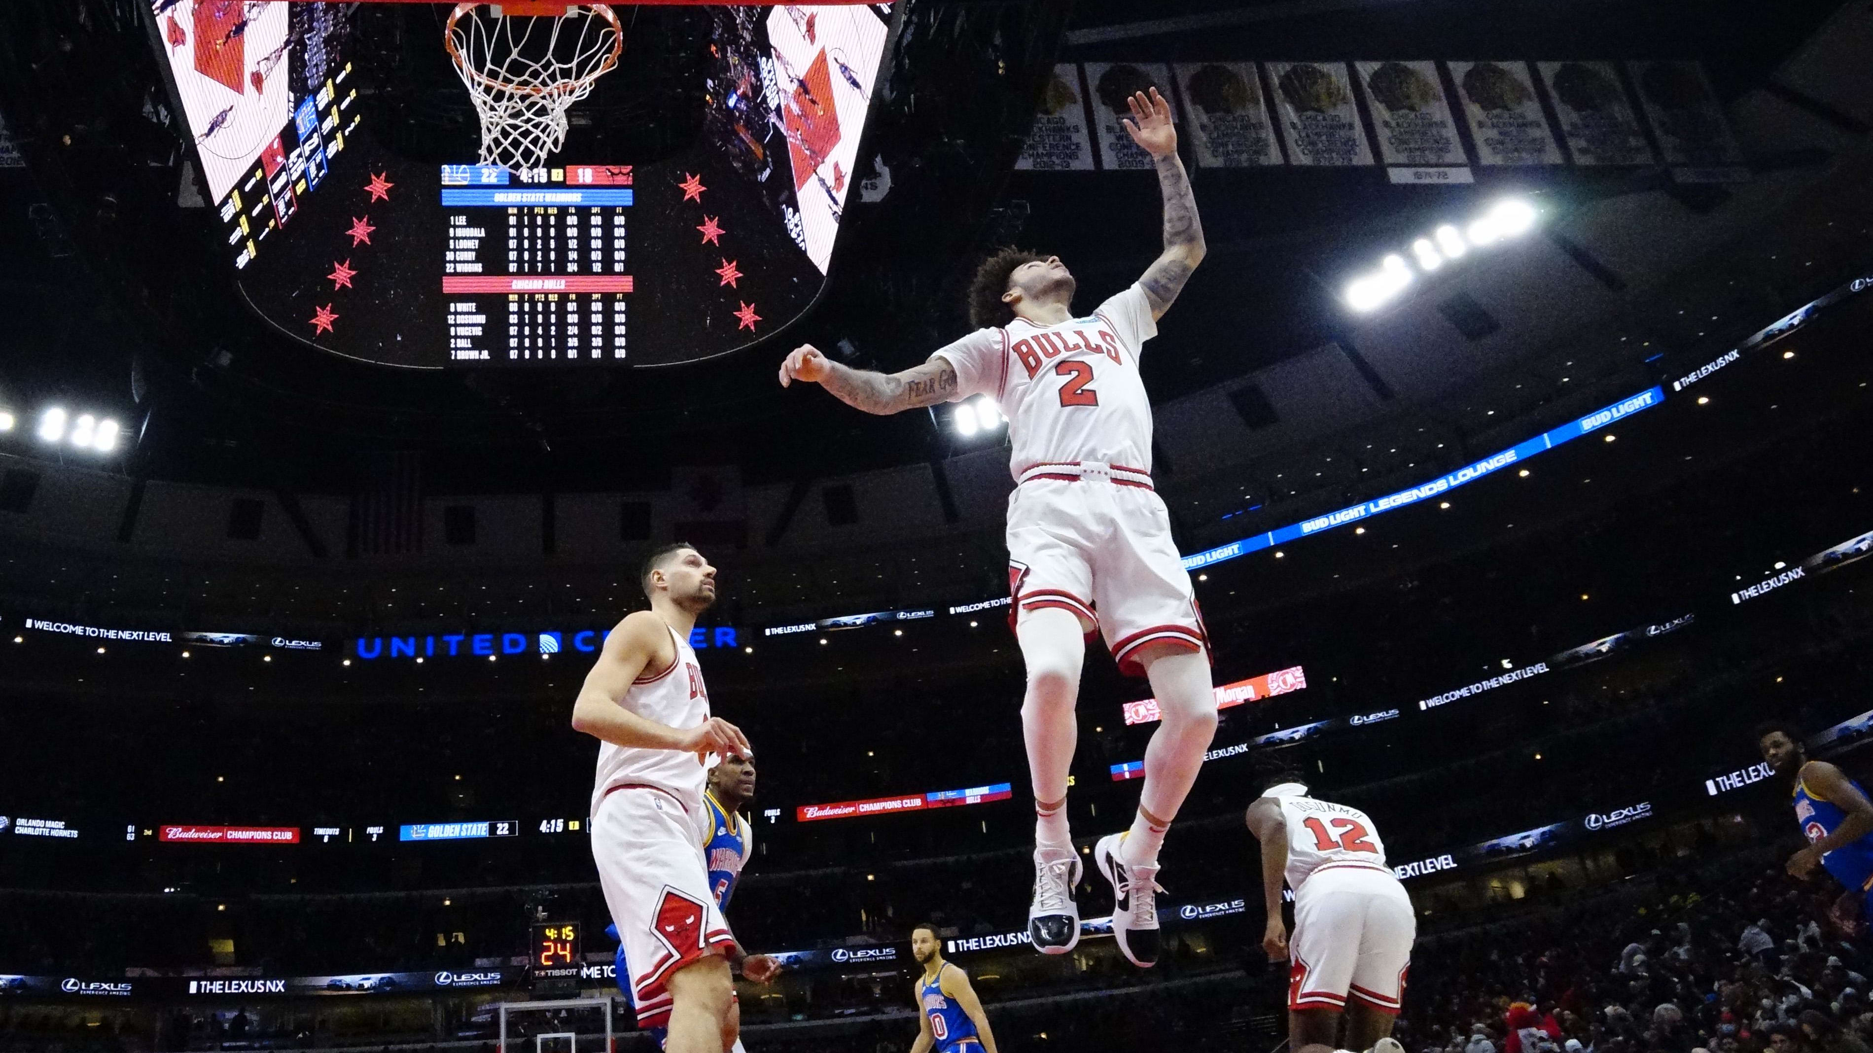
<instances>
[{"instance_id":1,"label":"player statistics table with blue and red bars below the net","mask_svg":"<svg viewBox=\"0 0 1873 1053\"><path fill-rule=\"evenodd\" d=\"M444 165L450 363L629 360L629 165Z\"/></svg>"}]
</instances>

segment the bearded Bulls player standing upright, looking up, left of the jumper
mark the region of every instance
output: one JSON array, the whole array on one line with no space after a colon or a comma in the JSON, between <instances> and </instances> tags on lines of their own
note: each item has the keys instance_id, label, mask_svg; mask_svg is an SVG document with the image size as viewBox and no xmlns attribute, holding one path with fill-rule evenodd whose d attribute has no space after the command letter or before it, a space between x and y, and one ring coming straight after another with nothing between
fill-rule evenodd
<instances>
[{"instance_id":1,"label":"bearded Bulls player standing upright, looking up, left of the jumper","mask_svg":"<svg viewBox=\"0 0 1873 1053\"><path fill-rule=\"evenodd\" d=\"M710 755L751 757L732 723L712 718L689 650L697 615L715 601L715 568L667 545L641 577L650 611L605 637L573 704L573 727L601 742L592 787L592 858L631 963L641 1027L667 1027L669 1053L736 1044L734 937L710 890L702 800Z\"/></svg>"}]
</instances>

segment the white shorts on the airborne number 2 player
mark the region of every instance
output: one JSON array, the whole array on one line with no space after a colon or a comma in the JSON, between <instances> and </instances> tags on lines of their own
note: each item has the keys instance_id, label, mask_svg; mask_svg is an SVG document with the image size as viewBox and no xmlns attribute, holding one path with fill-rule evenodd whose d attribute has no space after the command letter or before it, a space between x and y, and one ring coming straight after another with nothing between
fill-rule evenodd
<instances>
[{"instance_id":1,"label":"white shorts on the airborne number 2 player","mask_svg":"<svg viewBox=\"0 0 1873 1053\"><path fill-rule=\"evenodd\" d=\"M1094 626L1120 673L1156 641L1208 650L1171 515L1150 476L1118 465L1036 465L1008 497L1010 622L1060 607Z\"/></svg>"}]
</instances>

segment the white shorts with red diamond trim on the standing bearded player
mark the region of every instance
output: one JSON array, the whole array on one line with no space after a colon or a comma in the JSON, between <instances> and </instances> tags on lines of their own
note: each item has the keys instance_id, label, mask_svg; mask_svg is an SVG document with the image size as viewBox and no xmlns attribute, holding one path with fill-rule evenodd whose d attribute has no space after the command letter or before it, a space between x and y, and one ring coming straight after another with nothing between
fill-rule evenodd
<instances>
[{"instance_id":1,"label":"white shorts with red diamond trim on the standing bearded player","mask_svg":"<svg viewBox=\"0 0 1873 1053\"><path fill-rule=\"evenodd\" d=\"M671 972L734 946L708 888L702 796L650 785L612 789L592 817L592 858L618 926L639 1027L667 1027Z\"/></svg>"}]
</instances>

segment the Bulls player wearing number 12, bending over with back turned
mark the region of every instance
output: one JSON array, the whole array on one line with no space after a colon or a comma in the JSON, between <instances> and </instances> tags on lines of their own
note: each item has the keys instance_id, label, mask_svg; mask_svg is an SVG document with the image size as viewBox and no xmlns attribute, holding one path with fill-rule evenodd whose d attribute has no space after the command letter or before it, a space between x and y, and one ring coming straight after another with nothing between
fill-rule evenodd
<instances>
[{"instance_id":1,"label":"Bulls player wearing number 12, bending over with back turned","mask_svg":"<svg viewBox=\"0 0 1873 1053\"><path fill-rule=\"evenodd\" d=\"M1270 961L1289 959L1289 1049L1330 1053L1347 1021L1349 1049L1397 1049L1392 1021L1418 918L1386 866L1386 845L1358 808L1307 796L1279 772L1249 806L1262 843L1262 901ZM1294 939L1281 922L1281 882L1294 890Z\"/></svg>"}]
</instances>

